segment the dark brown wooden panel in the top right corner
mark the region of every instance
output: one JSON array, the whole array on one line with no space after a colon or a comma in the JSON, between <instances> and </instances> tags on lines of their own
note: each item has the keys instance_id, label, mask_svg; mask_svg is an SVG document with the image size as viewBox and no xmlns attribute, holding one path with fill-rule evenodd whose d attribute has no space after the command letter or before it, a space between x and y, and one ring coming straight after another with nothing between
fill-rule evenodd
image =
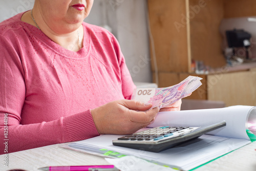
<instances>
[{"instance_id":1,"label":"dark brown wooden panel in the top right corner","mask_svg":"<svg viewBox=\"0 0 256 171\"><path fill-rule=\"evenodd\" d=\"M224 18L256 16L255 0L224 0Z\"/></svg>"}]
</instances>

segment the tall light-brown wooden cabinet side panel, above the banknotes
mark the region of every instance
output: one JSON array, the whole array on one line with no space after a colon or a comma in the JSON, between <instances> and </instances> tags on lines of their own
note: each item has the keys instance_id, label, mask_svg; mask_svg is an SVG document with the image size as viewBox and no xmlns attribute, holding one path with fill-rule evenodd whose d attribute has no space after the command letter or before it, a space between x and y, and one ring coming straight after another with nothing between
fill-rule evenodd
<instances>
[{"instance_id":1,"label":"tall light-brown wooden cabinet side panel, above the banknotes","mask_svg":"<svg viewBox=\"0 0 256 171\"><path fill-rule=\"evenodd\" d=\"M188 72L186 1L148 0L148 11L158 71Z\"/></svg>"}]
</instances>

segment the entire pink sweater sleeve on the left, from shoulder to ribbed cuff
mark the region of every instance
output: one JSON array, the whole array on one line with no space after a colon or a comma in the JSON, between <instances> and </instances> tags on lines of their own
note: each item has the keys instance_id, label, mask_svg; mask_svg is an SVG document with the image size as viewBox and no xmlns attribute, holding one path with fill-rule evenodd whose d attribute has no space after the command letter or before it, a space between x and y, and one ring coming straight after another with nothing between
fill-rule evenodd
<instances>
[{"instance_id":1,"label":"entire pink sweater sleeve on the left, from shoulder to ribbed cuff","mask_svg":"<svg viewBox=\"0 0 256 171\"><path fill-rule=\"evenodd\" d=\"M2 35L0 51L0 154L99 135L90 110L49 122L20 124L26 94L23 63L17 47Z\"/></svg>"}]
</instances>

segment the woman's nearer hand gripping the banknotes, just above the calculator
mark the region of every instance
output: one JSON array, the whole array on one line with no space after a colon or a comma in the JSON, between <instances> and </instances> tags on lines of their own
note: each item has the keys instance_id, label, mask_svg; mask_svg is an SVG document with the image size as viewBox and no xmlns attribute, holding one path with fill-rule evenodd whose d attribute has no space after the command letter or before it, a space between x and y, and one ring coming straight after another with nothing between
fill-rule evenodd
<instances>
[{"instance_id":1,"label":"woman's nearer hand gripping the banknotes, just above the calculator","mask_svg":"<svg viewBox=\"0 0 256 171\"><path fill-rule=\"evenodd\" d=\"M154 121L159 108L146 111L151 106L134 100L117 100L95 108L91 113L99 134L132 134Z\"/></svg>"}]
</instances>

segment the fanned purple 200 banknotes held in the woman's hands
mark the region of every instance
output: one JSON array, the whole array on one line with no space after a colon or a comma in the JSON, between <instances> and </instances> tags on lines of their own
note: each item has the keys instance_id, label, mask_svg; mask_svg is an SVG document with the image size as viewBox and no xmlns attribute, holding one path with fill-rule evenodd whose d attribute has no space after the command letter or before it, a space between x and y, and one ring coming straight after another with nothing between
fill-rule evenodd
<instances>
[{"instance_id":1,"label":"fanned purple 200 banknotes held in the woman's hands","mask_svg":"<svg viewBox=\"0 0 256 171\"><path fill-rule=\"evenodd\" d=\"M144 103L152 103L151 109L156 106L164 108L194 92L202 85L201 79L196 76L188 76L180 83L166 88L134 89L132 99Z\"/></svg>"}]
</instances>

